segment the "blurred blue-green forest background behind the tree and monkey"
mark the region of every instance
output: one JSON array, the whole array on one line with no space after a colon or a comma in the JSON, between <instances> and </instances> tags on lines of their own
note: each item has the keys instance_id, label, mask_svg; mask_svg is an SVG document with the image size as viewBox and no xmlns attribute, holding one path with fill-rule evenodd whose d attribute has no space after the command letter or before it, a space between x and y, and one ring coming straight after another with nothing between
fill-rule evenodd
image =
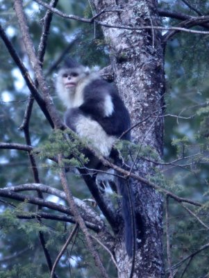
<instances>
[{"instance_id":1,"label":"blurred blue-green forest background behind the tree and monkey","mask_svg":"<svg viewBox=\"0 0 209 278\"><path fill-rule=\"evenodd\" d=\"M0 0L0 24L15 47L20 58L30 70L22 36L17 28L13 1ZM177 26L179 19L168 17L163 11L178 15L201 16L209 14L206 0L158 1L162 26ZM60 0L57 8L67 14L92 17L91 1ZM35 1L24 1L30 32L37 49L45 8ZM196 26L196 30L209 31L209 23ZM164 35L166 31L162 31ZM22 124L30 92L17 65L5 44L0 40L0 142L25 144ZM208 218L208 91L209 91L209 35L199 33L176 33L167 40L165 47L165 134L162 170L153 181L160 183L179 197L203 204L178 205L172 199L164 206L164 252L166 277L209 277L209 218ZM70 54L83 64L101 68L109 65L109 49L103 40L99 26L76 20L65 20L54 15L51 23L43 70L49 84L53 101L60 117L64 108L54 89L56 71L63 58ZM32 76L34 77L34 76ZM30 122L31 145L46 144L51 127L44 114L33 105ZM42 184L59 188L58 172L49 159L36 157ZM26 152L1 149L0 186L33 183L33 173ZM161 173L164 174L162 178ZM87 186L74 174L68 174L72 193L80 199L91 199ZM32 194L32 193L31 193ZM51 202L64 202L59 197L47 197ZM0 277L49 277L47 261L39 243L40 231L46 238L51 256L56 256L67 240L72 224L62 221L35 219L22 220L17 214L30 218L32 204L0 198ZM167 209L168 208L168 209ZM31 209L31 210L30 210ZM97 210L97 208L95 208ZM45 209L50 212L49 209ZM78 231L76 245L69 245L56 268L58 277L99 277L92 259L85 248L83 234ZM167 251L167 244L169 250ZM99 249L100 248L100 249ZM98 247L110 277L116 277L115 265L108 253ZM167 255L169 253L169 256ZM169 276L169 263L173 274Z\"/></svg>"}]
</instances>

